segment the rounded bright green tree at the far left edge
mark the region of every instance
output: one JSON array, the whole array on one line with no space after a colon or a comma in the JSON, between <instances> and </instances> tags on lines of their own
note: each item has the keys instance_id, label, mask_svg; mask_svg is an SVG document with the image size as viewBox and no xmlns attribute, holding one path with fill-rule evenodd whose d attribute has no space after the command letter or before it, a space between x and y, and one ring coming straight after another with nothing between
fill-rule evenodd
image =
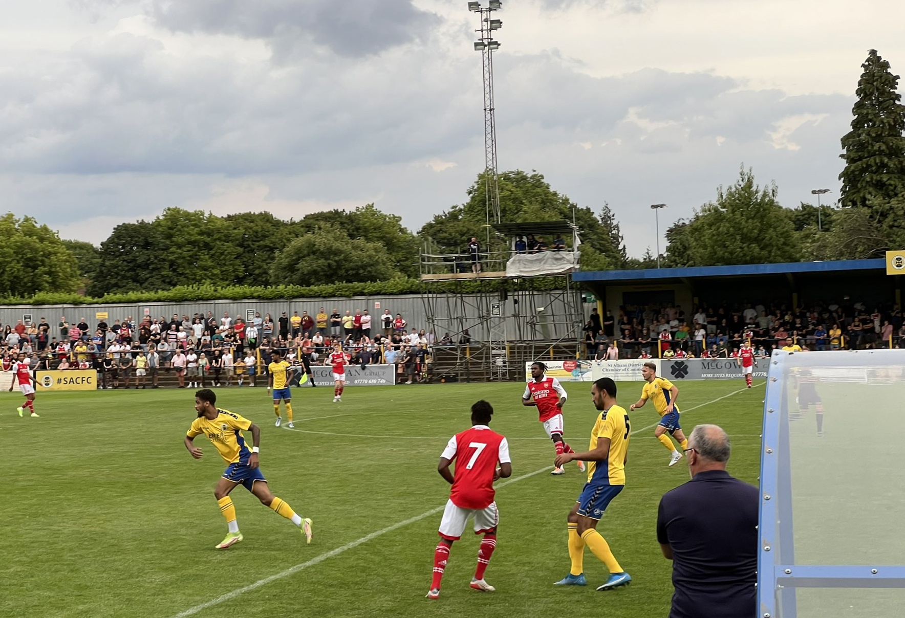
<instances>
[{"instance_id":1,"label":"rounded bright green tree at the far left edge","mask_svg":"<svg viewBox=\"0 0 905 618\"><path fill-rule=\"evenodd\" d=\"M74 291L79 273L60 236L32 217L0 216L0 294Z\"/></svg>"}]
</instances>

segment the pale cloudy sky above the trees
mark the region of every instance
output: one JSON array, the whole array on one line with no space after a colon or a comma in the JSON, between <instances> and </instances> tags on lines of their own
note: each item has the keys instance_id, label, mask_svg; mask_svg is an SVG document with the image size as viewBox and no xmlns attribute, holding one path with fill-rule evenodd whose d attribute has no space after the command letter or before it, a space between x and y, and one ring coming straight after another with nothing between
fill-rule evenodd
<instances>
[{"instance_id":1,"label":"pale cloudy sky above the trees","mask_svg":"<svg viewBox=\"0 0 905 618\"><path fill-rule=\"evenodd\" d=\"M100 242L169 205L420 227L483 167L465 0L28 0L0 20L0 210ZM486 5L486 0L484 0ZM503 0L501 169L537 169L629 252L738 166L838 189L867 50L905 72L900 0Z\"/></svg>"}]
</instances>

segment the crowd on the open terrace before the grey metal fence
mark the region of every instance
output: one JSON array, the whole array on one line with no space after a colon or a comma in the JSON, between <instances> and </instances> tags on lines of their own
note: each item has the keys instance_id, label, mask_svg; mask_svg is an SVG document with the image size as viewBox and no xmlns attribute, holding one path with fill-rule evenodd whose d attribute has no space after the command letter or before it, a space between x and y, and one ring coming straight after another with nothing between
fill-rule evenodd
<instances>
[{"instance_id":1,"label":"crowd on the open terrace before the grey metal fence","mask_svg":"<svg viewBox=\"0 0 905 618\"><path fill-rule=\"evenodd\" d=\"M326 362L325 353L339 342L352 365L393 365L398 382L412 384L424 380L430 347L452 344L449 336L435 342L433 334L410 327L389 309L377 317L368 309L288 314L282 311L274 320L256 312L246 320L207 311L170 319L128 316L94 325L65 316L55 324L42 318L25 326L18 320L14 326L0 324L0 357L5 371L20 353L34 370L94 369L99 388L156 388L162 372L173 372L180 386L253 386L261 378L267 381L273 350L292 365L310 366Z\"/></svg>"}]
</instances>

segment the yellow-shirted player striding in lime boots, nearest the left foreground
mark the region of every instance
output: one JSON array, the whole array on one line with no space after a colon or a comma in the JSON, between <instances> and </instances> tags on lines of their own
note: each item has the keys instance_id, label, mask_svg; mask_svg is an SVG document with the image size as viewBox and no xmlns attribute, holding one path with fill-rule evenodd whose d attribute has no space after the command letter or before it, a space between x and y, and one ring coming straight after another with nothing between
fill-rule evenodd
<instances>
[{"instance_id":1,"label":"yellow-shirted player striding in lime boots, nearest the left foreground","mask_svg":"<svg viewBox=\"0 0 905 618\"><path fill-rule=\"evenodd\" d=\"M271 494L267 479L264 478L258 467L261 428L239 414L216 407L216 401L217 396L209 388L203 388L195 393L195 410L198 418L189 427L185 438L186 449L192 457L199 460L201 459L201 447L195 446L193 441L195 436L204 433L228 464L223 478L214 489L214 498L217 499L220 512L226 518L229 532L223 542L215 548L232 547L243 539L242 533L239 532L239 524L235 519L233 499L229 497L230 492L239 483L242 483L246 490L251 491L255 498L261 500L262 505L270 507L278 515L289 519L298 526L301 534L305 536L305 540L310 543L311 520L301 518L286 502ZM242 434L245 430L252 432L252 448L249 448L248 443L245 442Z\"/></svg>"}]
</instances>

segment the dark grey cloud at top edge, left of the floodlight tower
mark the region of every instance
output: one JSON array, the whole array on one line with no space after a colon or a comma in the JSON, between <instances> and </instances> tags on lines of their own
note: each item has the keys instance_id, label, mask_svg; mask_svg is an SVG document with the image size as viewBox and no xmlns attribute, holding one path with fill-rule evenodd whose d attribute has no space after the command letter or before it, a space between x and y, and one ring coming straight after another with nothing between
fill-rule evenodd
<instances>
[{"instance_id":1,"label":"dark grey cloud at top edge, left of the floodlight tower","mask_svg":"<svg viewBox=\"0 0 905 618\"><path fill-rule=\"evenodd\" d=\"M411 0L153 0L157 24L176 32L232 34L271 43L279 57L311 43L365 56L424 38L439 21Z\"/></svg>"}]
</instances>

